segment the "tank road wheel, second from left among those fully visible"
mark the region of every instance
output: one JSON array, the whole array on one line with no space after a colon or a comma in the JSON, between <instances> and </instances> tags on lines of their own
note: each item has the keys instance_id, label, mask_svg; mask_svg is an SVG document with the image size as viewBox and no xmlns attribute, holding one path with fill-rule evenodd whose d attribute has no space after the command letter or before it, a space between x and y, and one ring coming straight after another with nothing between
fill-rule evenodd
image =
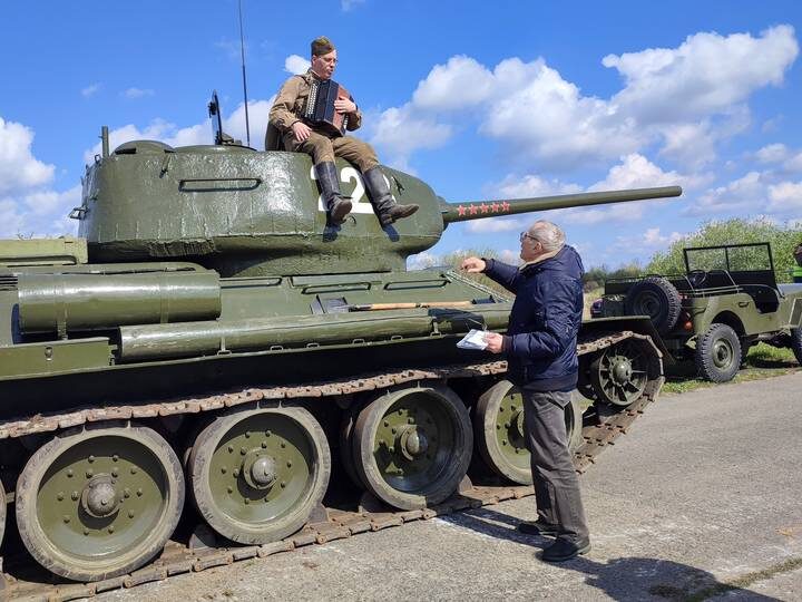
<instances>
[{"instance_id":1,"label":"tank road wheel, second from left among those fully visible","mask_svg":"<svg viewBox=\"0 0 802 602\"><path fill-rule=\"evenodd\" d=\"M307 522L329 486L331 454L304 408L235 409L198 435L187 473L195 506L212 528L262 544Z\"/></svg>"}]
</instances>

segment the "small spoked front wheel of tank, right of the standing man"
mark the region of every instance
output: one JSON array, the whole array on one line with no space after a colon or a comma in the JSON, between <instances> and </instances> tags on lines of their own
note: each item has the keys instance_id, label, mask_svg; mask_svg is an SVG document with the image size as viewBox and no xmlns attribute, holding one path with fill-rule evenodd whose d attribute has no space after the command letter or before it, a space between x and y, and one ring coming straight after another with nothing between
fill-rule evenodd
<instances>
[{"instance_id":1,"label":"small spoked front wheel of tank, right of the standing man","mask_svg":"<svg viewBox=\"0 0 802 602\"><path fill-rule=\"evenodd\" d=\"M632 340L605 349L590 362L590 386L600 401L626 407L648 382L648 358Z\"/></svg>"}]
</instances>

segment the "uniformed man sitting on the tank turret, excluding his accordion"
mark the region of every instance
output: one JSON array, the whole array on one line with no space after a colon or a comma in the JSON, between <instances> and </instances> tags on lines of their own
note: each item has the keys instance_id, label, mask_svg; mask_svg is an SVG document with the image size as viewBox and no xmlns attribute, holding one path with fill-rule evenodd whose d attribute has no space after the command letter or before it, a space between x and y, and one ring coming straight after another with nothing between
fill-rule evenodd
<instances>
[{"instance_id":1,"label":"uniformed man sitting on the tank turret, excluding his accordion","mask_svg":"<svg viewBox=\"0 0 802 602\"><path fill-rule=\"evenodd\" d=\"M332 225L342 224L352 207L350 198L340 193L334 158L342 157L362 172L373 211L379 216L382 227L388 226L397 220L412 215L418 211L418 205L395 203L388 181L379 168L379 159L373 147L353 136L332 135L327 128L304 118L313 81L331 79L336 64L336 49L329 38L320 37L312 40L312 66L305 74L293 76L284 82L271 108L270 124L281 133L284 148L312 155L329 222ZM362 125L362 113L353 98L336 99L334 109L348 115L349 130L358 129Z\"/></svg>"}]
</instances>

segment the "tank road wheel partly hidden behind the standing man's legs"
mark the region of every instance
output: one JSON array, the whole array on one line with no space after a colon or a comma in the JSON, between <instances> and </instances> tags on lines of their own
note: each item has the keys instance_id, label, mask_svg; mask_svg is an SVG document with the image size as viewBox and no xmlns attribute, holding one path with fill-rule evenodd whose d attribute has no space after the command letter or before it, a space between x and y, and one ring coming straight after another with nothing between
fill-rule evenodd
<instances>
[{"instance_id":1,"label":"tank road wheel partly hidden behind the standing man's legs","mask_svg":"<svg viewBox=\"0 0 802 602\"><path fill-rule=\"evenodd\" d=\"M571 398L565 408L568 448L583 443L583 411ZM524 424L524 398L509 380L485 391L473 415L473 437L482 459L498 475L524 485L532 482L529 449Z\"/></svg>"}]
</instances>

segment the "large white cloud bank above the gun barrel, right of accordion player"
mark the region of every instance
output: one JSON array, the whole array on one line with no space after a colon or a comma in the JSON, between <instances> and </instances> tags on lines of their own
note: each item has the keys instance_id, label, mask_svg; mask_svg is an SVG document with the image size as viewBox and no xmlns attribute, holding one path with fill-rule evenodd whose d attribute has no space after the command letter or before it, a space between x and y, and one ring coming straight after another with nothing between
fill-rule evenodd
<instances>
[{"instance_id":1,"label":"large white cloud bank above the gun barrel, right of accordion player","mask_svg":"<svg viewBox=\"0 0 802 602\"><path fill-rule=\"evenodd\" d=\"M746 101L779 86L799 54L794 30L777 26L760 36L701 32L677 48L608 55L603 65L624 77L610 98L584 95L544 58L508 58L495 68L459 55L436 65L409 103L382 114L381 135L404 162L419 148L444 144L456 127L475 125L497 139L507 159L537 161L566 171L588 162L659 151L698 171L717 145L751 124ZM408 124L434 130L404 142ZM414 125L414 124L413 124Z\"/></svg>"}]
</instances>

